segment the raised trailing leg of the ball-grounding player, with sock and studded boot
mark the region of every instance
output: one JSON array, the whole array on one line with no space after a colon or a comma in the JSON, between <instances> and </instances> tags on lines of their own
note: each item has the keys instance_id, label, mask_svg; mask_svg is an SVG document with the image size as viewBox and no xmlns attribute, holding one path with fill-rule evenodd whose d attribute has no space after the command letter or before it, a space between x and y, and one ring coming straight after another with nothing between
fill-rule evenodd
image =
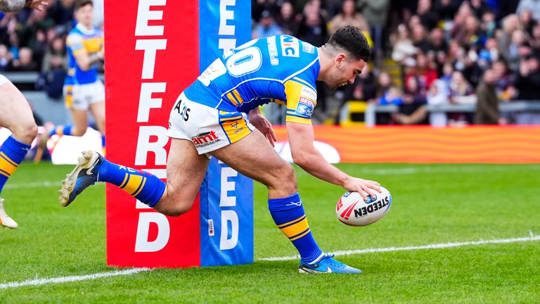
<instances>
[{"instance_id":1,"label":"raised trailing leg of the ball-grounding player, with sock and studded boot","mask_svg":"<svg viewBox=\"0 0 540 304\"><path fill-rule=\"evenodd\" d=\"M181 215L193 205L208 163L208 158L198 155L191 141L172 139L165 184L148 172L117 165L95 151L85 151L63 181L60 203L67 206L88 186L108 182L160 213Z\"/></svg>"}]
</instances>

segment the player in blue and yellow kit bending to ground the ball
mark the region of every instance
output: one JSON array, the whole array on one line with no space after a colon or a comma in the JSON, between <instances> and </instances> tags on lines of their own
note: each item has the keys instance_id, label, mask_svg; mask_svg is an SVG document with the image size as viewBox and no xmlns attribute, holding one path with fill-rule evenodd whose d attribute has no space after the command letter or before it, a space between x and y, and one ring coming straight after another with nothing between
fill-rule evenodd
<instances>
[{"instance_id":1,"label":"player in blue and yellow kit bending to ground the ball","mask_svg":"<svg viewBox=\"0 0 540 304\"><path fill-rule=\"evenodd\" d=\"M351 177L321 156L314 148L311 126L316 80L332 89L352 84L370 55L366 37L352 26L335 32L320 49L287 35L252 40L218 58L180 94L169 118L167 184L86 151L63 181L60 203L69 205L94 182L110 182L160 213L181 215L191 209L198 194L210 161L208 153L268 187L270 213L299 251L300 272L360 273L333 260L315 242L293 166L272 148L276 137L259 106L269 102L286 106L293 160L302 169L358 191L364 199L374 196L374 191L380 191L377 182Z\"/></svg>"}]
</instances>

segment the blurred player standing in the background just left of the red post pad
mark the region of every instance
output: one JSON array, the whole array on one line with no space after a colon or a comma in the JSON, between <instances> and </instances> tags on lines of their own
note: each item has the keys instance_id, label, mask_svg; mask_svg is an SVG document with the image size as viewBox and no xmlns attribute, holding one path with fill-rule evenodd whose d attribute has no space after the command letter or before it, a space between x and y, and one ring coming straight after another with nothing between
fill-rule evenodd
<instances>
[{"instance_id":1,"label":"blurred player standing in the background just left of the red post pad","mask_svg":"<svg viewBox=\"0 0 540 304\"><path fill-rule=\"evenodd\" d=\"M105 87L98 78L97 63L103 61L103 32L94 27L91 0L75 3L77 25L66 39L69 67L64 84L65 105L71 110L73 125L59 125L53 134L82 136L88 128L88 110L105 143Z\"/></svg>"}]
</instances>

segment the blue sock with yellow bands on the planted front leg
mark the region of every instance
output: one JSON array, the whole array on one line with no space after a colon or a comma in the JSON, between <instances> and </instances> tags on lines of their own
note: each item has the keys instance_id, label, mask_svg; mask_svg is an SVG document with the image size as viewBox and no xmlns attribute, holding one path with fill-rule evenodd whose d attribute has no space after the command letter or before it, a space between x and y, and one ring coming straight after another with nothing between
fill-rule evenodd
<instances>
[{"instance_id":1,"label":"blue sock with yellow bands on the planted front leg","mask_svg":"<svg viewBox=\"0 0 540 304\"><path fill-rule=\"evenodd\" d=\"M298 193L269 199L268 209L278 228L293 242L304 262L313 262L323 254L311 234Z\"/></svg>"}]
</instances>

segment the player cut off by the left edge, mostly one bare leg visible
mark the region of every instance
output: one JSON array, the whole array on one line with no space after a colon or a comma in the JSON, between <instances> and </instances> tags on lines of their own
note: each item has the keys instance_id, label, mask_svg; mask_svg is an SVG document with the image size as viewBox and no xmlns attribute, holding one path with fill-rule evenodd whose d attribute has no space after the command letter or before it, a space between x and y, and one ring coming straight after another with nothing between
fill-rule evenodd
<instances>
[{"instance_id":1,"label":"player cut off by the left edge, mostly one bare leg visible","mask_svg":"<svg viewBox=\"0 0 540 304\"><path fill-rule=\"evenodd\" d=\"M14 12L25 7L41 11L49 0L0 0L0 11ZM0 194L7 180L23 161L36 137L37 125L25 96L0 75L0 126L11 131L11 136L0 146ZM17 228L18 224L6 214L4 199L0 198L0 225Z\"/></svg>"}]
</instances>

